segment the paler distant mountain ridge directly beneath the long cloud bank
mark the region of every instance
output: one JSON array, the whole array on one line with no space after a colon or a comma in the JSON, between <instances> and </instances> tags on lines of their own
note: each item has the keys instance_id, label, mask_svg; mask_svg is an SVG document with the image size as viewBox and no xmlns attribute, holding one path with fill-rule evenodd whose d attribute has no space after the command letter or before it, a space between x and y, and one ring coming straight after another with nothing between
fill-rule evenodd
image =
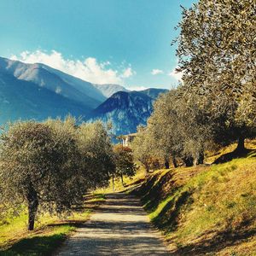
<instances>
[{"instance_id":1,"label":"paler distant mountain ridge directly beneath the long cloud bank","mask_svg":"<svg viewBox=\"0 0 256 256\"><path fill-rule=\"evenodd\" d=\"M106 100L102 92L93 84L44 64L26 64L0 58L0 71L12 75L16 79L32 82L37 87L51 90L69 100L79 102L84 105L84 108L96 108Z\"/></svg>"}]
</instances>

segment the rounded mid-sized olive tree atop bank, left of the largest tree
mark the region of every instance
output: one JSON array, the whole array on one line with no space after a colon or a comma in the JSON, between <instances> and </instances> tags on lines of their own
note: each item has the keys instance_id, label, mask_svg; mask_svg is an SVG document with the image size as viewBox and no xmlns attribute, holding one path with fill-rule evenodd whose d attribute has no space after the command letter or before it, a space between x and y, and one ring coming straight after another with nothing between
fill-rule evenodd
<instances>
[{"instance_id":1,"label":"rounded mid-sized olive tree atop bank, left of the largest tree","mask_svg":"<svg viewBox=\"0 0 256 256\"><path fill-rule=\"evenodd\" d=\"M154 140L155 156L165 163L172 157L176 167L178 157L186 166L201 164L212 138L212 123L197 96L187 96L180 86L154 103L154 112L148 119L148 136Z\"/></svg>"}]
</instances>

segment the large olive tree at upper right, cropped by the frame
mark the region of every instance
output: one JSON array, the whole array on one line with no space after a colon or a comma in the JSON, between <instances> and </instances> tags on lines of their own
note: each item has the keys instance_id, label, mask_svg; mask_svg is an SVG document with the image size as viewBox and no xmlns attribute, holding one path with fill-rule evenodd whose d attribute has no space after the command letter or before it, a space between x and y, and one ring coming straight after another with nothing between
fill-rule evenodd
<instances>
[{"instance_id":1,"label":"large olive tree at upper right, cropped by the frame","mask_svg":"<svg viewBox=\"0 0 256 256\"><path fill-rule=\"evenodd\" d=\"M200 0L183 9L178 71L187 90L211 105L218 142L255 136L255 20L253 0Z\"/></svg>"}]
</instances>

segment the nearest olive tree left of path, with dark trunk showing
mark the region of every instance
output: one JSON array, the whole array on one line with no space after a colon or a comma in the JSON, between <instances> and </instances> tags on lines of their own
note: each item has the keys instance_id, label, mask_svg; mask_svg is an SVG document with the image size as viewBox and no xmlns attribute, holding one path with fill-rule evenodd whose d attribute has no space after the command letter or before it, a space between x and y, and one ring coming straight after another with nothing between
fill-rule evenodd
<instances>
[{"instance_id":1,"label":"nearest olive tree left of path, with dark trunk showing","mask_svg":"<svg viewBox=\"0 0 256 256\"><path fill-rule=\"evenodd\" d=\"M26 204L28 230L33 230L38 206L66 212L82 200L76 188L78 147L62 125L33 121L10 124L1 135L0 200L17 207Z\"/></svg>"}]
</instances>

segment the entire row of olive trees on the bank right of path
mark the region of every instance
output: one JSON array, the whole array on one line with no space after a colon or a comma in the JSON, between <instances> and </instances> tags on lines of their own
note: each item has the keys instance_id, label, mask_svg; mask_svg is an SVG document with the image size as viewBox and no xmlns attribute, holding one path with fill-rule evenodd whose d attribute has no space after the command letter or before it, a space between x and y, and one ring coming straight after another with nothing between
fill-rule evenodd
<instances>
[{"instance_id":1,"label":"entire row of olive trees on the bank right of path","mask_svg":"<svg viewBox=\"0 0 256 256\"><path fill-rule=\"evenodd\" d=\"M216 143L238 140L243 152L244 139L256 136L256 2L199 0L182 16L173 44L183 81L154 102L138 132L141 162L154 155L174 166L177 158L200 164Z\"/></svg>"}]
</instances>

